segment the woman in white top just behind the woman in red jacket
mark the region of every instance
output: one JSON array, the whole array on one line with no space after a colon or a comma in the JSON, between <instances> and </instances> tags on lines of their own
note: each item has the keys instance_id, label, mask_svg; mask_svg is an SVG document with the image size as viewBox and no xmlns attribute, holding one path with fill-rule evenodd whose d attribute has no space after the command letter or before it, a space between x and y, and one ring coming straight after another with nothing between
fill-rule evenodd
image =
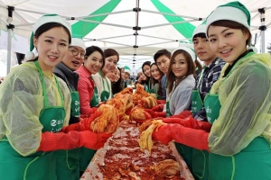
<instances>
[{"instance_id":1,"label":"woman in white top just behind the woman in red jacket","mask_svg":"<svg viewBox=\"0 0 271 180\"><path fill-rule=\"evenodd\" d=\"M105 65L97 74L92 75L98 89L98 103L106 102L112 98L111 82L107 78L107 73L116 69L119 55L115 49L105 49Z\"/></svg>"}]
</instances>

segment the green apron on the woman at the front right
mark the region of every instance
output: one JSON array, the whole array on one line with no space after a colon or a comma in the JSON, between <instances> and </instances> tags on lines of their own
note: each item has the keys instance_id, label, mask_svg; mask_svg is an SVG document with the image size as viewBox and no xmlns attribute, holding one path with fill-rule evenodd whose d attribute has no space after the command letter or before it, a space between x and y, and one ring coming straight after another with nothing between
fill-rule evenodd
<instances>
[{"instance_id":1,"label":"green apron on the woman at the front right","mask_svg":"<svg viewBox=\"0 0 271 180\"><path fill-rule=\"evenodd\" d=\"M218 94L205 97L204 106L208 107L211 123L219 117L220 100ZM211 114L213 113L213 114ZM209 180L257 180L271 179L271 149L266 139L259 136L248 147L230 157L209 154ZM253 165L252 165L253 163ZM269 166L266 168L266 166Z\"/></svg>"}]
</instances>

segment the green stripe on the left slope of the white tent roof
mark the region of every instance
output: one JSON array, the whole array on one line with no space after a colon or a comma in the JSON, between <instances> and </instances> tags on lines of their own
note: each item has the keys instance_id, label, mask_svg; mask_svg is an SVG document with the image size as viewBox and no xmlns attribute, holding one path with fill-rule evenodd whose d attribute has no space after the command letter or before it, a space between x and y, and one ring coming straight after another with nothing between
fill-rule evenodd
<instances>
[{"instance_id":1,"label":"green stripe on the left slope of the white tent roof","mask_svg":"<svg viewBox=\"0 0 271 180\"><path fill-rule=\"evenodd\" d=\"M111 13L117 4L120 3L121 0L111 0L107 4L104 4L102 7L98 8L93 14L105 14ZM102 22L106 19L107 15L101 15L96 17L85 18L86 20ZM98 26L98 23L88 23L88 22L78 22L71 25L72 34L80 34L82 37L85 37L89 34L90 31L94 30Z\"/></svg>"}]
</instances>

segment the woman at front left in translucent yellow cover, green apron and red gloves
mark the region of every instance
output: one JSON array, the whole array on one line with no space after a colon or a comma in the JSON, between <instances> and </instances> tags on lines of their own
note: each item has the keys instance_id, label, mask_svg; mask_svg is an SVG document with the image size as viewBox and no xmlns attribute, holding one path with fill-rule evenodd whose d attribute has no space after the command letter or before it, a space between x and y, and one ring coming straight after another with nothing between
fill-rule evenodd
<instances>
[{"instance_id":1,"label":"woman at front left in translucent yellow cover, green apron and red gloves","mask_svg":"<svg viewBox=\"0 0 271 180\"><path fill-rule=\"evenodd\" d=\"M32 61L14 67L0 85L1 179L56 180L56 150L101 148L106 133L94 133L86 123L70 127L70 90L52 73L68 51L70 24L56 14L33 25ZM68 127L67 127L68 126Z\"/></svg>"}]
</instances>

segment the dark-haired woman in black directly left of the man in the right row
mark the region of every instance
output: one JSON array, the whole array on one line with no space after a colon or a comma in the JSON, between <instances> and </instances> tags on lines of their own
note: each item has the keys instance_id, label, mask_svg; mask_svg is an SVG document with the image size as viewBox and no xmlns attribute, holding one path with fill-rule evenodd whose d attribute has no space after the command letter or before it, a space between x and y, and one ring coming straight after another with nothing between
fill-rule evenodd
<instances>
[{"instance_id":1,"label":"dark-haired woman in black directly left of the man in the right row","mask_svg":"<svg viewBox=\"0 0 271 180\"><path fill-rule=\"evenodd\" d=\"M154 82L154 93L156 94L156 99L162 99L162 85L161 80L164 73L157 67L156 63L151 65L151 81Z\"/></svg>"}]
</instances>

